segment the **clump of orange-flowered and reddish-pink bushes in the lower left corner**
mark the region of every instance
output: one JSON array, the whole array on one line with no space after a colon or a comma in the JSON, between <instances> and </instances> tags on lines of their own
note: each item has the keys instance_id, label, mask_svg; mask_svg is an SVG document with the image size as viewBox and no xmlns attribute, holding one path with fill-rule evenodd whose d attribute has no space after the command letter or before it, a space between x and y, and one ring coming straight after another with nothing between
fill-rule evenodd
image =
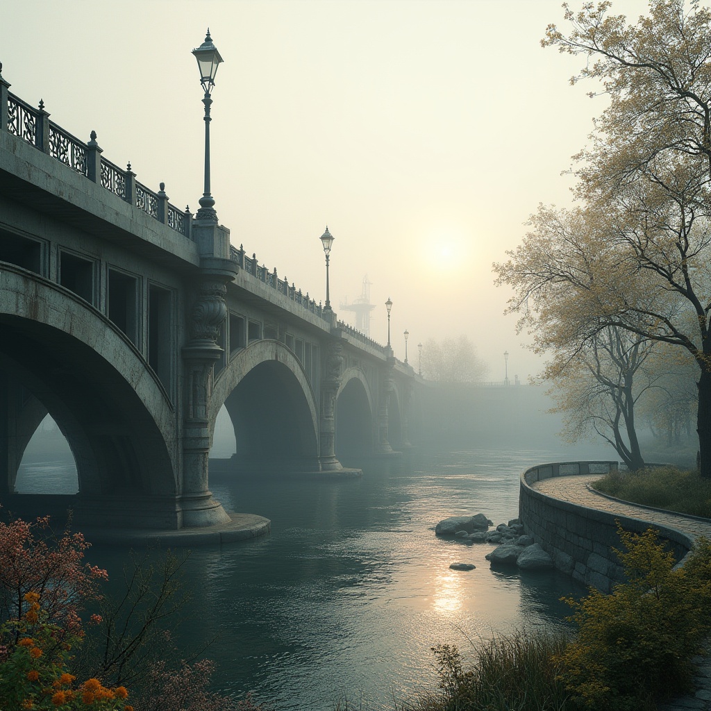
<instances>
[{"instance_id":1,"label":"clump of orange-flowered and reddish-pink bushes in the lower left corner","mask_svg":"<svg viewBox=\"0 0 711 711\"><path fill-rule=\"evenodd\" d=\"M179 620L184 558L169 553L158 570L133 558L112 601L99 591L107 572L82 562L89 546L80 533L55 535L48 517L0 522L1 711L134 711L124 683L145 688L141 711L265 711L208 691L212 662L173 669L159 658L164 620ZM90 615L98 634L85 639L79 613L90 601L103 614Z\"/></svg>"}]
</instances>

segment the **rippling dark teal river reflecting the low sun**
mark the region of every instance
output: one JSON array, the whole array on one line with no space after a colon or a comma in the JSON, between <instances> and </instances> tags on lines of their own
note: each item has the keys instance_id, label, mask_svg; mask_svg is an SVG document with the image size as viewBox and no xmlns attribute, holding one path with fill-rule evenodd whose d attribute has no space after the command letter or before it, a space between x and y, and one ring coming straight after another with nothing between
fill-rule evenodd
<instances>
[{"instance_id":1,"label":"rippling dark teal river reflecting the low sun","mask_svg":"<svg viewBox=\"0 0 711 711\"><path fill-rule=\"evenodd\" d=\"M518 513L526 466L605 455L459 447L353 463L363 468L358 479L213 474L210 488L225 508L267 516L272 531L191 552L181 641L217 637L206 653L218 662L215 688L252 691L282 711L331 711L344 697L389 707L434 689L435 644L467 653L492 634L561 626L569 609L560 597L584 593L557 572L492 571L484 556L493 546L438 539L434 525L480 511L506 523ZM28 454L18 488L60 491L68 467ZM114 579L126 557L91 551ZM452 562L476 570L456 572Z\"/></svg>"}]
</instances>

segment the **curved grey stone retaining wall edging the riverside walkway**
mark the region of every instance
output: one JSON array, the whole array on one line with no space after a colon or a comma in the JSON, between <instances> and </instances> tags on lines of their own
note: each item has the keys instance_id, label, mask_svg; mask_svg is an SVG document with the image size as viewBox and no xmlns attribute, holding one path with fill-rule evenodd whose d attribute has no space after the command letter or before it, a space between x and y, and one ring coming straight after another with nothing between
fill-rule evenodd
<instances>
[{"instance_id":1,"label":"curved grey stone retaining wall edging the riverside walkway","mask_svg":"<svg viewBox=\"0 0 711 711\"><path fill-rule=\"evenodd\" d=\"M612 551L621 545L616 521L625 530L635 533L641 533L650 524L562 501L530 485L555 476L603 476L614 469L617 469L616 461L567 461L532 466L521 475L518 500L519 518L525 532L552 556L555 567L602 592L610 592L616 582L624 580L619 560ZM653 526L660 538L668 541L677 560L689 552L692 544L686 535L658 524Z\"/></svg>"}]
</instances>

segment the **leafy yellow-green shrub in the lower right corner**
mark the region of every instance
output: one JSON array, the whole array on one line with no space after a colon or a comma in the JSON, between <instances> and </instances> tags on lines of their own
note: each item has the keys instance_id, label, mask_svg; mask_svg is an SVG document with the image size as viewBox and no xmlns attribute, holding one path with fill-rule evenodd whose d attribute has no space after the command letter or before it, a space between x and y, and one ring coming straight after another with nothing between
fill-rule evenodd
<instances>
[{"instance_id":1,"label":"leafy yellow-green shrub in the lower right corner","mask_svg":"<svg viewBox=\"0 0 711 711\"><path fill-rule=\"evenodd\" d=\"M688 570L673 570L653 530L620 537L626 551L616 553L629 582L567 601L577 636L560 656L562 678L574 704L595 711L653 708L654 698L687 689L690 656L711 631L710 545L701 542Z\"/></svg>"}]
</instances>

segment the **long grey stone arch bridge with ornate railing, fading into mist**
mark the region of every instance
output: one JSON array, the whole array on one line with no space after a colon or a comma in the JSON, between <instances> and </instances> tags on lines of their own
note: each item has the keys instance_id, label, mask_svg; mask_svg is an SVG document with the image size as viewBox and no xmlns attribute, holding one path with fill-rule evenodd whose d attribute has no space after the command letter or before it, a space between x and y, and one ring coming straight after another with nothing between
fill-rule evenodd
<instances>
[{"instance_id":1,"label":"long grey stone arch bridge with ornate railing, fading into mist","mask_svg":"<svg viewBox=\"0 0 711 711\"><path fill-rule=\"evenodd\" d=\"M229 520L208 488L225 405L237 466L337 475L407 446L416 378L392 350L9 92L0 75L0 503L47 412L75 523ZM40 512L38 512L40 513Z\"/></svg>"}]
</instances>

